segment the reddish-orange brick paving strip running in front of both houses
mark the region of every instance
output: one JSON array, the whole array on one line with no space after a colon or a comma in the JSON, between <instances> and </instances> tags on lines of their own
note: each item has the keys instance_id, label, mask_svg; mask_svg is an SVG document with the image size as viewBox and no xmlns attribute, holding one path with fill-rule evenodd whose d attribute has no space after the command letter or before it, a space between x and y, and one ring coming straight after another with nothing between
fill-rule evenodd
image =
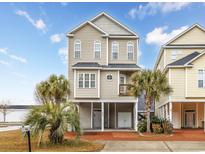
<instances>
[{"instance_id":1,"label":"reddish-orange brick paving strip running in front of both houses","mask_svg":"<svg viewBox=\"0 0 205 154\"><path fill-rule=\"evenodd\" d=\"M65 138L74 138L75 134L67 132ZM121 140L121 141L205 141L202 129L174 130L172 135L144 135L135 132L87 132L81 136L84 140Z\"/></svg>"}]
</instances>

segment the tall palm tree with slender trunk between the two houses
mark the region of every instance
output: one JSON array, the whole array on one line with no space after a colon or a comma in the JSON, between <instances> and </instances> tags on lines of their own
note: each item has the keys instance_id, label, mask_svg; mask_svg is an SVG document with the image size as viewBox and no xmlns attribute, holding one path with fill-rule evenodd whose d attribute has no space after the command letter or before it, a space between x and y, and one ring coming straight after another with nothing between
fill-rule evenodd
<instances>
[{"instance_id":1,"label":"tall palm tree with slender trunk between the two houses","mask_svg":"<svg viewBox=\"0 0 205 154\"><path fill-rule=\"evenodd\" d=\"M147 116L147 132L150 132L150 110L154 101L159 101L161 95L168 95L172 92L169 86L166 74L161 71L143 70L135 72L131 76L130 91L132 95L138 97L144 95L146 116Z\"/></svg>"}]
</instances>

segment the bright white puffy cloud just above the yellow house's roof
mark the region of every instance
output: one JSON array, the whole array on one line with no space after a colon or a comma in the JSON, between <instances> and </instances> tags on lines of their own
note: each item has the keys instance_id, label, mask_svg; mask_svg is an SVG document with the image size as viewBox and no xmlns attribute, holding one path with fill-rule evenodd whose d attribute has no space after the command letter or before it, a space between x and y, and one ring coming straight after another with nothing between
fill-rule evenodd
<instances>
[{"instance_id":1,"label":"bright white puffy cloud just above the yellow house's roof","mask_svg":"<svg viewBox=\"0 0 205 154\"><path fill-rule=\"evenodd\" d=\"M157 27L146 35L145 41L147 44L155 44L155 45L161 46L165 44L166 42L168 42L174 36L186 30L187 28L188 26L182 26L168 33L166 32L166 30L168 29L167 26Z\"/></svg>"}]
</instances>

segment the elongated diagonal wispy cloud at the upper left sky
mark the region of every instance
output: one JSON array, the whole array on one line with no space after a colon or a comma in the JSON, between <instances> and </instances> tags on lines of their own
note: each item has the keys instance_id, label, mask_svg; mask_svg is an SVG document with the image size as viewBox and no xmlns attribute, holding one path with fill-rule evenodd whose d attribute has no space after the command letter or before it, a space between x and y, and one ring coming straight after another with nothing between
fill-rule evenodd
<instances>
[{"instance_id":1,"label":"elongated diagonal wispy cloud at the upper left sky","mask_svg":"<svg viewBox=\"0 0 205 154\"><path fill-rule=\"evenodd\" d=\"M46 33L47 26L42 19L34 20L26 11L18 10L16 14L19 16L25 17L35 28L41 30L42 32Z\"/></svg>"}]
</instances>

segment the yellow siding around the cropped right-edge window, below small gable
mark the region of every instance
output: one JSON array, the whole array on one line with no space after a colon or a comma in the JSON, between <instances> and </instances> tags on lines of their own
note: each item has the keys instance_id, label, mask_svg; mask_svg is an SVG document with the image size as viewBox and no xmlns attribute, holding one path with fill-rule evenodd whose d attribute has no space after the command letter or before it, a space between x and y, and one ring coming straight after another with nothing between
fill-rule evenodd
<instances>
[{"instance_id":1,"label":"yellow siding around the cropped right-edge window, below small gable","mask_svg":"<svg viewBox=\"0 0 205 154\"><path fill-rule=\"evenodd\" d=\"M192 68L187 68L187 97L205 98L205 88L198 88L198 69L205 69L205 55L192 64Z\"/></svg>"}]
</instances>

